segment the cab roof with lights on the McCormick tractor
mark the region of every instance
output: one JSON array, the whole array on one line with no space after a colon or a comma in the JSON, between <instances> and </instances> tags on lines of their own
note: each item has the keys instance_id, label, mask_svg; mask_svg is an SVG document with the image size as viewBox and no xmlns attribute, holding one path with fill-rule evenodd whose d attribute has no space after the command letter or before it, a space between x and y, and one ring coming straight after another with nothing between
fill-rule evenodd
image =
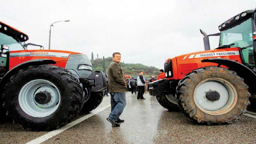
<instances>
[{"instance_id":1,"label":"cab roof with lights on the McCormick tractor","mask_svg":"<svg viewBox=\"0 0 256 144\"><path fill-rule=\"evenodd\" d=\"M21 42L25 42L28 40L28 36L25 33L13 28L1 21L0 21L0 32L6 34L8 36L17 38Z\"/></svg>"}]
</instances>

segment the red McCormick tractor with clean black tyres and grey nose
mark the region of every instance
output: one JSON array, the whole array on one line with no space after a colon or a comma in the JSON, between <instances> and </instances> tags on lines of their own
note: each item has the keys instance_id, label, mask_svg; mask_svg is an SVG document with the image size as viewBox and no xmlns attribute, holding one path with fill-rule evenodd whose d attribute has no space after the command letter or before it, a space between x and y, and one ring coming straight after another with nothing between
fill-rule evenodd
<instances>
[{"instance_id":1,"label":"red McCormick tractor with clean black tyres and grey nose","mask_svg":"<svg viewBox=\"0 0 256 144\"><path fill-rule=\"evenodd\" d=\"M0 22L0 113L23 128L52 130L103 99L107 78L90 59L60 50L27 50L28 36ZM39 45L40 46L40 45Z\"/></svg>"}]
</instances>

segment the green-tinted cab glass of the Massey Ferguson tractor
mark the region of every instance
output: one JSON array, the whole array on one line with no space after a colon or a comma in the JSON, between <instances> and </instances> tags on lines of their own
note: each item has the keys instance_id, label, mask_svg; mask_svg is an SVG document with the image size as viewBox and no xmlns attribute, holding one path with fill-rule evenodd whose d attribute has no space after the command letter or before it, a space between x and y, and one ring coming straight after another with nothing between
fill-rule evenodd
<instances>
[{"instance_id":1,"label":"green-tinted cab glass of the Massey Ferguson tractor","mask_svg":"<svg viewBox=\"0 0 256 144\"><path fill-rule=\"evenodd\" d=\"M247 19L239 25L221 31L220 46L230 45L241 49L242 61L248 67L254 68L252 19Z\"/></svg>"}]
</instances>

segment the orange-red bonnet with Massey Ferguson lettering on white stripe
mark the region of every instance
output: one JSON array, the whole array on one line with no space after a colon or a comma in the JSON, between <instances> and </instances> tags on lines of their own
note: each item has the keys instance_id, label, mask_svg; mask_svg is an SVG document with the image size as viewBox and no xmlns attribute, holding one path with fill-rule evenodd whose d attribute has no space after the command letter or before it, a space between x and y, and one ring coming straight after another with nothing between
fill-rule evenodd
<instances>
[{"instance_id":1,"label":"orange-red bonnet with Massey Ferguson lettering on white stripe","mask_svg":"<svg viewBox=\"0 0 256 144\"><path fill-rule=\"evenodd\" d=\"M201 62L201 60L209 58L224 58L242 63L239 54L239 49L237 47L189 53L174 58L170 58L172 60L173 77L167 79L182 79L186 74L188 74L190 71L194 69L218 65L216 63ZM170 59L167 59L166 62L168 62Z\"/></svg>"}]
</instances>

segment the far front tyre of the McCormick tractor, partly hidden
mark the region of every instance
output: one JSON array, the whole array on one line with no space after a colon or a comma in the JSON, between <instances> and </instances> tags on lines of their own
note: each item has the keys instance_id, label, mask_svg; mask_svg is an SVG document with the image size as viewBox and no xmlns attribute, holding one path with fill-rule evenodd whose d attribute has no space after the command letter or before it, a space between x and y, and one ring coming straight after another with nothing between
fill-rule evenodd
<instances>
[{"instance_id":1,"label":"far front tyre of the McCormick tractor, partly hidden","mask_svg":"<svg viewBox=\"0 0 256 144\"><path fill-rule=\"evenodd\" d=\"M100 105L103 100L103 92L91 92L89 99L84 103L83 113L88 113Z\"/></svg>"}]
</instances>

